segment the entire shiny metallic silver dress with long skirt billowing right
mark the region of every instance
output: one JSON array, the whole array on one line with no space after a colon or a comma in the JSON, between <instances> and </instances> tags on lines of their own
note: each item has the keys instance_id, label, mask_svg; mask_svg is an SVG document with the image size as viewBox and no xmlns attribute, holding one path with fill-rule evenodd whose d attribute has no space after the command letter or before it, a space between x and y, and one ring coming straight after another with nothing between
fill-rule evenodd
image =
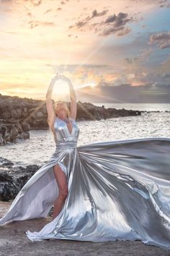
<instances>
[{"instance_id":1,"label":"entire shiny metallic silver dress with long skirt billowing right","mask_svg":"<svg viewBox=\"0 0 170 256\"><path fill-rule=\"evenodd\" d=\"M70 118L71 119L71 118ZM0 226L48 216L58 197L53 166L68 181L61 213L31 241L140 240L170 249L170 139L143 138L77 146L79 126L56 117L55 152L15 197Z\"/></svg>"}]
</instances>

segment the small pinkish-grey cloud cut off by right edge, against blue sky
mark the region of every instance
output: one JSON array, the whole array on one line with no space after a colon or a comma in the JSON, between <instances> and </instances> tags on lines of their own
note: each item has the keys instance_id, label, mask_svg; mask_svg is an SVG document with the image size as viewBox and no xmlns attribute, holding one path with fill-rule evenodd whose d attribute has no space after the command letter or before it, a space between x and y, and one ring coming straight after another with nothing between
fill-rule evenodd
<instances>
[{"instance_id":1,"label":"small pinkish-grey cloud cut off by right edge, against blue sky","mask_svg":"<svg viewBox=\"0 0 170 256\"><path fill-rule=\"evenodd\" d=\"M149 44L156 43L159 48L170 48L170 32L151 35Z\"/></svg>"}]
</instances>

